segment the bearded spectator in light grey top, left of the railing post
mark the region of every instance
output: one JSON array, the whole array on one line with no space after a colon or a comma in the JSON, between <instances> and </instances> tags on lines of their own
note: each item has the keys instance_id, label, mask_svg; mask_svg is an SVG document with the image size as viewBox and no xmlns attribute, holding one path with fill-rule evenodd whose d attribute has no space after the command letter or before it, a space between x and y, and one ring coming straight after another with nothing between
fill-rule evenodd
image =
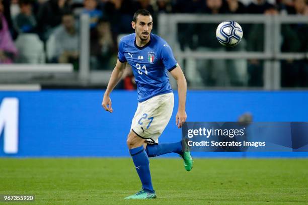
<instances>
[{"instance_id":1,"label":"bearded spectator in light grey top, left of the railing post","mask_svg":"<svg viewBox=\"0 0 308 205\"><path fill-rule=\"evenodd\" d=\"M56 61L72 63L74 70L78 70L79 37L72 13L62 16L62 25L55 31Z\"/></svg>"}]
</instances>

